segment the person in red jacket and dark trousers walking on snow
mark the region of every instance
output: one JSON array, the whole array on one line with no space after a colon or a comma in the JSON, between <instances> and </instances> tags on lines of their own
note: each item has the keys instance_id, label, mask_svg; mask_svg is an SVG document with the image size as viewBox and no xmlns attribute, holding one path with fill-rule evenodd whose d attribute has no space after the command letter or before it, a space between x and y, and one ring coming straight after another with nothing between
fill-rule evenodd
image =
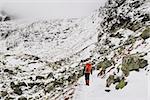
<instances>
[{"instance_id":1,"label":"person in red jacket and dark trousers walking on snow","mask_svg":"<svg viewBox=\"0 0 150 100\"><path fill-rule=\"evenodd\" d=\"M90 63L86 63L83 73L85 75L85 83L86 85L89 85L89 81L90 81L90 73L92 74L92 64Z\"/></svg>"}]
</instances>

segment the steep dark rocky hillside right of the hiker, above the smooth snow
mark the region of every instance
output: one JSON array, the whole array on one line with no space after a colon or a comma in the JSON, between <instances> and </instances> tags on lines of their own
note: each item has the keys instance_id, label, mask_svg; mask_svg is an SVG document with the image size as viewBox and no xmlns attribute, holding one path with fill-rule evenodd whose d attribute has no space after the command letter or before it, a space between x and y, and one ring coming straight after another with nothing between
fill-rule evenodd
<instances>
[{"instance_id":1,"label":"steep dark rocky hillside right of the hiker, above the smooth snow","mask_svg":"<svg viewBox=\"0 0 150 100\"><path fill-rule=\"evenodd\" d=\"M103 20L98 28L97 69L100 75L106 73L106 87L114 84L116 89L122 89L131 71L144 68L149 72L149 9L149 0L108 0L100 9Z\"/></svg>"}]
</instances>

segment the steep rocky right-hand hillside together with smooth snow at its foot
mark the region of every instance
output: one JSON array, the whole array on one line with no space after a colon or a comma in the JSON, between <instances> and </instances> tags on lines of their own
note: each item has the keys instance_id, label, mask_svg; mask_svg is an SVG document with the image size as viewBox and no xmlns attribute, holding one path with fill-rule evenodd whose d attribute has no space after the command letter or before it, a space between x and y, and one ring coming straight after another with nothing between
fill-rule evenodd
<instances>
[{"instance_id":1,"label":"steep rocky right-hand hillside together with smooth snow at its foot","mask_svg":"<svg viewBox=\"0 0 150 100\"><path fill-rule=\"evenodd\" d=\"M90 86L84 77L78 81L74 100L149 100L149 9L149 0L108 0L99 9L94 59L100 70Z\"/></svg>"}]
</instances>

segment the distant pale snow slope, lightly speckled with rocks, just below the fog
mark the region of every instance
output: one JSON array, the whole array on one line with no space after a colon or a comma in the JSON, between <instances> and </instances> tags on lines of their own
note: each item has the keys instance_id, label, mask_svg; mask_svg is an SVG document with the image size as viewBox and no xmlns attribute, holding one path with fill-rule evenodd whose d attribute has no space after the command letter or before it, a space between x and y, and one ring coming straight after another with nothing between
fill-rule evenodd
<instances>
[{"instance_id":1,"label":"distant pale snow slope, lightly speckled with rocks, just below the fog","mask_svg":"<svg viewBox=\"0 0 150 100\"><path fill-rule=\"evenodd\" d=\"M1 23L1 51L51 61L69 57L97 41L96 24L89 19L38 21L23 26Z\"/></svg>"}]
</instances>

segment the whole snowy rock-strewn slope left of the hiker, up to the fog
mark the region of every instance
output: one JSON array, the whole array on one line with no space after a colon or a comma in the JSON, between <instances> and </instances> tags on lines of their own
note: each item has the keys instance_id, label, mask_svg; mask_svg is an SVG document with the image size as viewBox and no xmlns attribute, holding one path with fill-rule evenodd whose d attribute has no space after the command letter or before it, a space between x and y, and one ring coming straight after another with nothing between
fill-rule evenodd
<instances>
[{"instance_id":1,"label":"whole snowy rock-strewn slope left of the hiker, up to the fog","mask_svg":"<svg viewBox=\"0 0 150 100\"><path fill-rule=\"evenodd\" d=\"M82 76L82 60L96 47L100 19L95 16L1 22L1 99L51 100L67 91Z\"/></svg>"}]
</instances>

